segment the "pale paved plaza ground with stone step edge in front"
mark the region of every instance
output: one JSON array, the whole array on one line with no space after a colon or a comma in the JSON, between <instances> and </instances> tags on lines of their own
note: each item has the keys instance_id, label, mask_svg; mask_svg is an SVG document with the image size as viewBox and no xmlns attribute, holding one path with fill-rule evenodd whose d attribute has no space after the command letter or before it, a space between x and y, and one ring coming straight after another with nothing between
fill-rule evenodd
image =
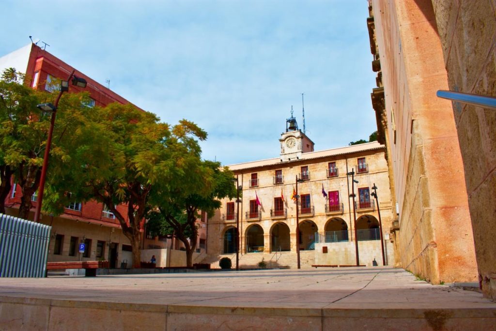
<instances>
[{"instance_id":1,"label":"pale paved plaza ground with stone step edge in front","mask_svg":"<svg viewBox=\"0 0 496 331\"><path fill-rule=\"evenodd\" d=\"M401 269L0 278L0 330L496 330L496 303Z\"/></svg>"}]
</instances>

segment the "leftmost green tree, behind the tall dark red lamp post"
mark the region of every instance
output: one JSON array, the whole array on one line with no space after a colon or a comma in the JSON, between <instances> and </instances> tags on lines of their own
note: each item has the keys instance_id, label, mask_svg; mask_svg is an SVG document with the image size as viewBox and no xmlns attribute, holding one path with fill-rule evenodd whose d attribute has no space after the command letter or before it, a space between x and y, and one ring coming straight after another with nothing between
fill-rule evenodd
<instances>
[{"instance_id":1,"label":"leftmost green tree, behind the tall dark red lamp post","mask_svg":"<svg viewBox=\"0 0 496 331\"><path fill-rule=\"evenodd\" d=\"M19 217L27 219L31 210L31 197L37 191L43 155L45 152L50 115L37 108L42 102L53 102L54 95L29 87L23 74L6 69L0 80L0 212L10 190L12 176L22 191ZM58 82L54 82L54 86ZM59 103L58 117L50 156L52 177L57 169L70 169L79 165L71 161L71 153L79 128L84 124L88 108L82 102L86 94L65 95ZM70 134L69 134L70 132Z\"/></svg>"}]
</instances>

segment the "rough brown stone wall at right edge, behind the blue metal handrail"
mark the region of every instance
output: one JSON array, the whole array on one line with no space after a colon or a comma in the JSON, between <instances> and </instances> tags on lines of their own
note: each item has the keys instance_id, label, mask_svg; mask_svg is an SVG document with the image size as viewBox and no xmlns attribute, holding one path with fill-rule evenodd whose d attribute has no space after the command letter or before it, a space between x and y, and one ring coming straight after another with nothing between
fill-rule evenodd
<instances>
[{"instance_id":1,"label":"rough brown stone wall at right edge, behind the blue metal handrail","mask_svg":"<svg viewBox=\"0 0 496 331\"><path fill-rule=\"evenodd\" d=\"M449 90L496 96L496 1L433 0ZM451 106L449 101L444 102ZM496 298L496 111L453 103L479 278Z\"/></svg>"}]
</instances>

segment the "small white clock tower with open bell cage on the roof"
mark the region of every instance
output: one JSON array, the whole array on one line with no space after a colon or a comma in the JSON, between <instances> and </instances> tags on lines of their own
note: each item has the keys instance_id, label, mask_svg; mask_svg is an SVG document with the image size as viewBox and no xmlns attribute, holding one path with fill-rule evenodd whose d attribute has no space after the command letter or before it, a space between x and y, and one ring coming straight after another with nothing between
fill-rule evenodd
<instances>
[{"instance_id":1,"label":"small white clock tower with open bell cage on the roof","mask_svg":"<svg viewBox=\"0 0 496 331\"><path fill-rule=\"evenodd\" d=\"M281 159L282 161L292 161L300 159L302 153L313 152L313 142L298 129L296 118L291 117L286 120L286 132L281 134Z\"/></svg>"}]
</instances>

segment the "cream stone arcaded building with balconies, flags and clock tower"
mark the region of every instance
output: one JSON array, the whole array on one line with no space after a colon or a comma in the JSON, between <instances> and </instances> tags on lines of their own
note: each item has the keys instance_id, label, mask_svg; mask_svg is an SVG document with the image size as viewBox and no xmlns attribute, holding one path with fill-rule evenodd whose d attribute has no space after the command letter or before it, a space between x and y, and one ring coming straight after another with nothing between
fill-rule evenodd
<instances>
[{"instance_id":1,"label":"cream stone arcaded building with balconies, flags and clock tower","mask_svg":"<svg viewBox=\"0 0 496 331\"><path fill-rule=\"evenodd\" d=\"M349 258L342 259L342 264L356 265L354 241L355 233L358 233L359 242L370 240L369 246L375 247L376 253L372 257L359 250L360 264L372 266L375 258L382 265L379 214L371 196L375 184L383 238L388 251L385 260L386 264L393 265L394 249L389 232L394 220L394 208L391 206L384 146L372 142L310 152L313 143L300 130L285 132L281 137L280 157L229 165L238 178L242 198L239 207L236 199L224 199L217 214L208 220L207 254L210 257L231 254L232 257L239 217L242 256L262 256L263 253L276 251L295 253L299 242L302 252L314 251L315 259L309 261L317 261L317 255L325 254L322 253L322 244L337 247L340 243L348 243L352 249L349 254L346 253ZM309 146L306 146L307 143ZM353 185L352 176L347 175L352 170L354 179L358 181ZM353 189L356 194L357 232L353 199L350 198ZM296 191L299 196L299 236L296 228L297 205L292 199ZM333 254L329 251L327 256ZM243 257L241 266L243 259L248 261Z\"/></svg>"}]
</instances>

